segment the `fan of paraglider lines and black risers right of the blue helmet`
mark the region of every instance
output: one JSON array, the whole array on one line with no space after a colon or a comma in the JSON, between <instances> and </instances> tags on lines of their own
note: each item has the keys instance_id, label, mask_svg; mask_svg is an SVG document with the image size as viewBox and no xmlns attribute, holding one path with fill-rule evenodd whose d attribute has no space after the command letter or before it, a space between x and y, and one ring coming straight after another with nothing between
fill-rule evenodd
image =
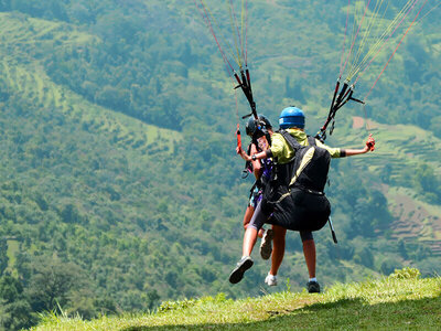
<instances>
[{"instance_id":1,"label":"fan of paraglider lines and black risers right of the blue helmet","mask_svg":"<svg viewBox=\"0 0 441 331\"><path fill-rule=\"evenodd\" d=\"M398 0L394 0L392 2L387 0L355 0L353 1L355 4L352 4L351 0L347 2L347 11L346 11L346 25L345 25L345 33L344 33L344 41L343 41L343 51L340 61L340 75L335 85L335 90L333 94L330 111L327 119L321 130L315 136L316 138L324 141L326 139L326 130L327 126L332 122L330 135L334 129L334 118L336 111L342 108L348 102L356 102L359 104L366 105L366 99L374 89L375 85L378 83L379 78L381 77L383 73L386 71L387 66L389 65L391 58L394 57L395 53L399 49L400 44L402 43L404 39L410 31L410 29L418 22L421 21L417 19L421 17L422 9L427 4L428 0L404 0L401 3ZM421 4L422 3L422 4ZM372 9L369 6L372 4ZM418 4L418 6L417 6ZM435 8L441 4L441 1L437 3L433 8L431 8L426 15L432 12ZM413 18L413 21L407 28L404 28L402 31L404 35L398 42L398 39L392 39L404 23L406 19L411 14L411 12L418 9L418 13ZM349 13L354 15L354 23L352 28L352 35L349 39L351 47L348 51L345 52L346 49L346 36L348 31L348 21L349 21ZM424 17L426 17L424 15ZM423 18L424 18L423 17ZM408 19L410 21L411 18ZM400 34L400 33L399 33ZM361 41L358 42L357 39ZM377 55L381 52L384 46L388 44L391 40L398 42L395 51L390 55L389 60L383 67L381 72L379 73L378 77L376 78L374 85L370 87L370 90L367 93L364 99L358 99L353 97L355 85L357 84L358 79L362 77L364 72L370 66ZM346 54L347 53L347 54ZM345 62L344 58L346 57ZM344 62L344 64L343 64ZM347 75L345 73L347 72ZM345 75L345 76L344 76ZM344 82L342 78L344 77ZM349 85L349 82L353 82ZM341 86L342 84L342 86ZM366 108L365 109L365 117L367 118ZM367 120L366 120L366 129L369 130Z\"/></svg>"}]
</instances>

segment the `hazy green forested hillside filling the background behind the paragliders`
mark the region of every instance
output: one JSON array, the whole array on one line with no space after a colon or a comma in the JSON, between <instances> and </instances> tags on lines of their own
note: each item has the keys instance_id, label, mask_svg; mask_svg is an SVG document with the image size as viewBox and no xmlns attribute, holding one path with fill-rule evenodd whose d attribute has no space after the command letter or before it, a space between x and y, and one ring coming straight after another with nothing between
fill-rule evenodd
<instances>
[{"instance_id":1,"label":"hazy green forested hillside filling the background behind the paragliders","mask_svg":"<svg viewBox=\"0 0 441 331\"><path fill-rule=\"evenodd\" d=\"M295 104L306 130L320 128L343 8L249 4L254 93L271 121ZM236 97L240 115L249 109L194 2L2 0L0 11L0 328L60 307L93 318L269 291L257 255L240 285L227 281L252 184L235 153ZM440 14L411 30L369 97L377 150L333 161L326 192L340 243L327 228L316 235L324 286L401 266L440 271ZM327 142L362 147L361 117L358 105L342 109ZM300 238L287 238L281 282L301 288Z\"/></svg>"}]
</instances>

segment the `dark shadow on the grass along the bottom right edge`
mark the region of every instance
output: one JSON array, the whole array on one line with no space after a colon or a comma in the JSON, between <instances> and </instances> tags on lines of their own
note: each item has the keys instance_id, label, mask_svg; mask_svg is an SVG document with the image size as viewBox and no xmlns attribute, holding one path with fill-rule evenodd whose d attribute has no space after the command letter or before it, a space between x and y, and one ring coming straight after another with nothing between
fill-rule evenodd
<instances>
[{"instance_id":1,"label":"dark shadow on the grass along the bottom right edge","mask_svg":"<svg viewBox=\"0 0 441 331\"><path fill-rule=\"evenodd\" d=\"M267 311L262 321L230 324L132 327L148 330L440 330L441 296L420 300L368 305L362 299L314 303L293 311Z\"/></svg>"}]
</instances>

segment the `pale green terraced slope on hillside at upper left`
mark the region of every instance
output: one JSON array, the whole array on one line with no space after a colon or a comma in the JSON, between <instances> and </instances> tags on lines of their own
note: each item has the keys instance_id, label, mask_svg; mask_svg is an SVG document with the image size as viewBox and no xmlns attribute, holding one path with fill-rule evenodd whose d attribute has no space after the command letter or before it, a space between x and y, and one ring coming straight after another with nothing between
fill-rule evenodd
<instances>
[{"instance_id":1,"label":"pale green terraced slope on hillside at upper left","mask_svg":"<svg viewBox=\"0 0 441 331\"><path fill-rule=\"evenodd\" d=\"M151 149L159 136L169 141L165 143L169 150L173 141L181 139L180 132L141 121L133 126L130 117L93 104L47 76L40 52L55 52L60 47L80 50L95 41L95 36L73 31L65 23L8 13L0 13L0 29L2 40L14 41L0 45L0 77L4 92L20 93L37 107L63 111L87 129L110 132L120 146L130 146L142 153Z\"/></svg>"}]
</instances>

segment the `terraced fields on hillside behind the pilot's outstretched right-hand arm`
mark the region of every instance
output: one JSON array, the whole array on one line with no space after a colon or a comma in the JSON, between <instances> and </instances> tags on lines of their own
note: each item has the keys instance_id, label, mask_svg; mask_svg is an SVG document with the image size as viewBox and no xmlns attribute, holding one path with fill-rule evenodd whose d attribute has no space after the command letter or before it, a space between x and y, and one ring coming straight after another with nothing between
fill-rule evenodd
<instances>
[{"instance_id":1,"label":"terraced fields on hillside behind the pilot's outstretched right-hand arm","mask_svg":"<svg viewBox=\"0 0 441 331\"><path fill-rule=\"evenodd\" d=\"M369 120L368 127L377 140L375 156L353 162L359 168L368 164L369 171L376 174L377 182L372 184L387 196L396 220L391 224L391 237L428 243L433 254L440 255L441 209L423 201L420 192L399 183L410 181L406 177L411 177L421 163L429 164L437 177L441 175L441 139L415 126L388 126ZM363 136L366 136L364 119L354 117L351 135L337 134L337 140L351 146Z\"/></svg>"}]
</instances>

